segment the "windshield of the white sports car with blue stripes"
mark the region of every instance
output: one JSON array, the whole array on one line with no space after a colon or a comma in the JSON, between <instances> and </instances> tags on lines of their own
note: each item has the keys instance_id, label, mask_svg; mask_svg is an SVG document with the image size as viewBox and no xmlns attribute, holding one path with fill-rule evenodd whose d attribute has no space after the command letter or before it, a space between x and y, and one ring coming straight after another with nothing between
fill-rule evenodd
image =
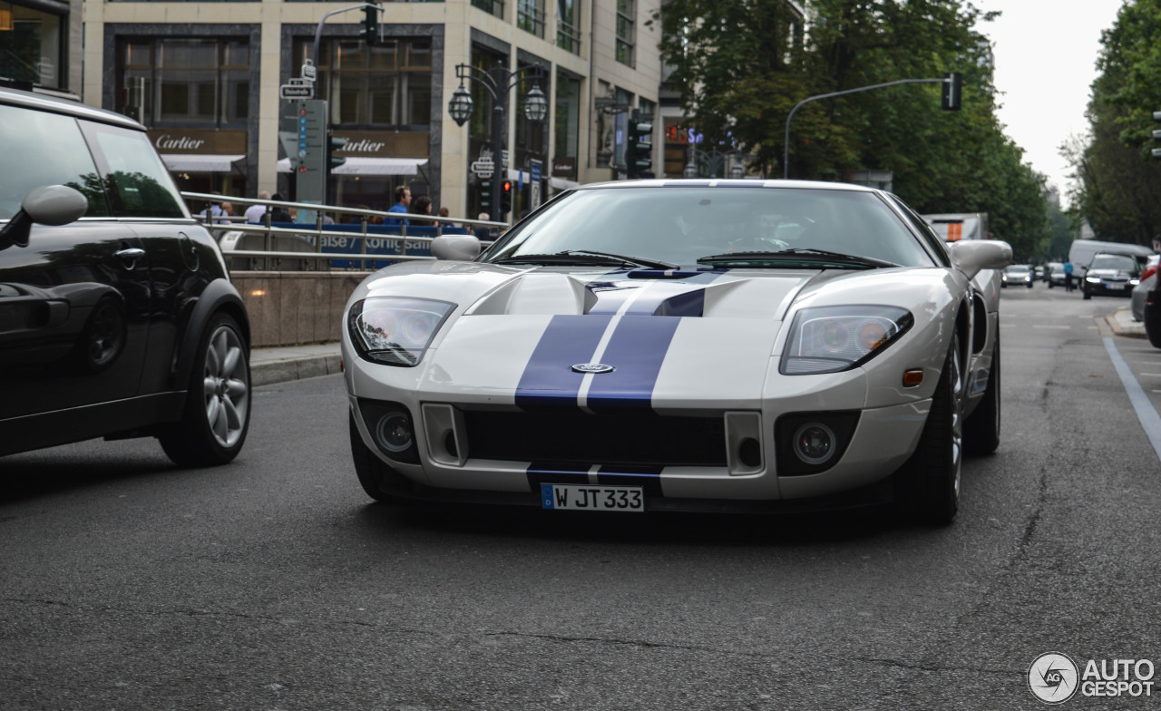
<instances>
[{"instance_id":1,"label":"windshield of the white sports car with blue stripes","mask_svg":"<svg viewBox=\"0 0 1161 711\"><path fill-rule=\"evenodd\" d=\"M799 258L751 256L744 266L835 266L825 252L868 258L882 266L935 266L918 239L874 193L705 184L576 191L510 230L482 260L512 264L521 256L571 252L695 265L705 257L785 250L800 250ZM743 266L738 261L726 266ZM865 265L871 266L878 265Z\"/></svg>"}]
</instances>

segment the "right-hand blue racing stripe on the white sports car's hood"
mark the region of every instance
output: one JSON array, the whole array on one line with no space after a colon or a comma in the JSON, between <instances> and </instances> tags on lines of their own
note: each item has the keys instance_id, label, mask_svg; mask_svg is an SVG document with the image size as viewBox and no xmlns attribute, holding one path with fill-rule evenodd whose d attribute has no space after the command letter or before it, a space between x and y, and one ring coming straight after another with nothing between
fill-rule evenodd
<instances>
[{"instance_id":1,"label":"right-hand blue racing stripe on the white sports car's hood","mask_svg":"<svg viewBox=\"0 0 1161 711\"><path fill-rule=\"evenodd\" d=\"M592 376L586 405L592 410L648 408L654 385L680 318L625 316L613 331L600 361L612 373Z\"/></svg>"}]
</instances>

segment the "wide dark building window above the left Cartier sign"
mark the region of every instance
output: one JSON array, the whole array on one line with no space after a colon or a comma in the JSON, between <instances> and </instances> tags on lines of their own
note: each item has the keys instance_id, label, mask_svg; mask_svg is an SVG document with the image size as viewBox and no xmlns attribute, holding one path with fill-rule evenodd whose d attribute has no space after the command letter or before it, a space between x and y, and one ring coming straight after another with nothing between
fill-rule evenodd
<instances>
[{"instance_id":1,"label":"wide dark building window above the left Cartier sign","mask_svg":"<svg viewBox=\"0 0 1161 711\"><path fill-rule=\"evenodd\" d=\"M117 62L117 110L146 125L246 125L250 45L245 40L123 40Z\"/></svg>"}]
</instances>

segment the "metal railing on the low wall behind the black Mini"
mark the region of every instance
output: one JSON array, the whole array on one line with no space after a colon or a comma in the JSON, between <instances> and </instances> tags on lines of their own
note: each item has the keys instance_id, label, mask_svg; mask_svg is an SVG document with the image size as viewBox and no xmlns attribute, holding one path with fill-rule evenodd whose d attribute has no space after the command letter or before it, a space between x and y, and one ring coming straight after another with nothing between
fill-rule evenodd
<instances>
[{"instance_id":1,"label":"metal railing on the low wall behind the black Mini","mask_svg":"<svg viewBox=\"0 0 1161 711\"><path fill-rule=\"evenodd\" d=\"M366 271L366 263L368 261L404 261L414 259L434 259L434 257L427 254L408 254L408 242L412 240L414 243L426 243L431 244L431 240L444 234L446 227L461 227L464 229L475 229L479 227L488 228L489 230L496 230L497 234L502 234L509 228L506 222L491 222L488 220L469 220L467 217L441 217L439 215L416 215L416 214L403 214L403 213L389 213L387 210L372 210L366 208L352 208L333 204L318 204L311 202L290 202L286 200L261 200L258 198L235 198L232 195L215 195L210 193L192 193L182 192L181 196L186 200L190 208L190 214L195 220L200 221L207 229L214 231L215 237L222 243L223 235L225 232L241 232L258 234L264 236L264 244L261 250L238 250L228 247L223 245L222 253L225 257L239 257L239 258L252 258L252 259L312 259L312 260L349 260L359 261L362 264L362 268ZM262 223L254 224L248 222L240 222L245 217L238 216L222 216L211 215L209 209L211 204L217 204L221 202L230 202L231 204L262 204L266 206L266 214L264 215ZM197 209L195 210L195 206ZM309 222L295 222L295 227L275 227L273 222L273 208L283 208L286 210L311 210L313 211L313 223ZM334 216L341 215L354 215L359 218L359 228L354 230L337 230L327 229L330 225L336 224ZM327 222L330 220L330 222ZM376 220L382 221L375 222ZM399 224L385 224L387 221L398 221ZM406 221L413 222L425 222L431 223L435 228L435 232L430 234L427 230L421 232L414 230L419 225L410 225L412 228L412 235L408 235L408 223ZM280 223L286 224L286 223ZM352 224L347 222L345 224ZM459 232L456 232L459 234ZM305 251L280 251L274 249L275 238L279 236L287 237L300 237L307 238L313 243L313 252ZM324 252L324 242L327 238L342 238L359 239L360 251L359 252ZM368 239L374 238L387 238L387 239L398 239L398 253L368 253L367 243ZM483 240L482 244L491 244L490 240Z\"/></svg>"}]
</instances>

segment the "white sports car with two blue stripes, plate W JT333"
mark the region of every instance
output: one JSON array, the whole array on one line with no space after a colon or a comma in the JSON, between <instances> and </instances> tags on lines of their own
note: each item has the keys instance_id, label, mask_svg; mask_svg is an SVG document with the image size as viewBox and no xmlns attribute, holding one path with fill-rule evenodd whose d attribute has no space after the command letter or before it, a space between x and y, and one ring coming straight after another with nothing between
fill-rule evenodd
<instances>
[{"instance_id":1,"label":"white sports car with two blue stripes, plate W JT333","mask_svg":"<svg viewBox=\"0 0 1161 711\"><path fill-rule=\"evenodd\" d=\"M1000 441L1003 242L946 245L841 184L563 193L351 297L351 447L373 498L578 511L894 501L949 523ZM981 286L991 283L991 287Z\"/></svg>"}]
</instances>

